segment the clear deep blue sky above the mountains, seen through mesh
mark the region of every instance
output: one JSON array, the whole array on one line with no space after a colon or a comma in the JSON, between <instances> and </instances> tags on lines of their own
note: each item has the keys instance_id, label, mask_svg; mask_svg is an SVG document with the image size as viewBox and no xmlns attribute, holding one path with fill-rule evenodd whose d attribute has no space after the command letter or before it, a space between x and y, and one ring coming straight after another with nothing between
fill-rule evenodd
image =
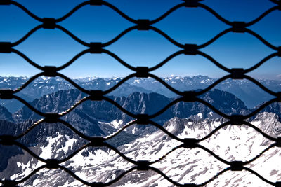
<instances>
[{"instance_id":1,"label":"clear deep blue sky above the mountains, seen through mesh","mask_svg":"<svg viewBox=\"0 0 281 187\"><path fill-rule=\"evenodd\" d=\"M81 0L22 0L18 1L40 18L60 18ZM181 0L108 0L121 11L135 19L155 19L180 4ZM249 22L259 17L268 8L275 6L269 0L205 0L218 14L233 21ZM281 12L274 11L260 22L249 27L274 46L281 46ZM40 22L31 18L20 8L0 6L0 41L18 41ZM106 42L113 39L133 24L107 6L84 6L76 13L58 23L86 42ZM180 8L164 20L153 25L169 34L180 43L202 44L230 26L211 15L203 8ZM39 29L15 49L38 64L59 66L65 64L86 49L59 29ZM152 67L166 57L181 50L153 31L129 32L105 49L112 51L133 66ZM228 33L203 48L202 51L214 57L228 68L247 69L274 52L250 34ZM281 59L274 57L259 69L249 73L255 78L281 79ZM32 76L40 72L22 57L12 53L0 53L0 76ZM67 69L60 71L71 78L99 76L126 76L131 70L123 67L107 54L86 54ZM200 55L179 55L156 71L157 76L195 76L198 74L214 78L226 75L212 62Z\"/></svg>"}]
</instances>

